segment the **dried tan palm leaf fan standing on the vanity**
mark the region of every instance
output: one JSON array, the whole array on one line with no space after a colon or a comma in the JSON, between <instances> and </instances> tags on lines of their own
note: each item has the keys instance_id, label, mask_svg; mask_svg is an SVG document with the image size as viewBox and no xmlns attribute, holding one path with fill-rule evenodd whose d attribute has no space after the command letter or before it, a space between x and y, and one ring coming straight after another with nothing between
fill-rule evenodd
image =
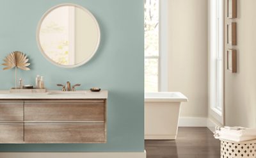
<instances>
[{"instance_id":1,"label":"dried tan palm leaf fan standing on the vanity","mask_svg":"<svg viewBox=\"0 0 256 158\"><path fill-rule=\"evenodd\" d=\"M30 65L30 63L28 63L28 58L23 52L14 51L6 56L4 62L5 63L2 65L6 67L4 67L3 70L8 70L15 67L15 88L17 88L17 68L20 68L21 70L30 70L30 68L28 68Z\"/></svg>"}]
</instances>

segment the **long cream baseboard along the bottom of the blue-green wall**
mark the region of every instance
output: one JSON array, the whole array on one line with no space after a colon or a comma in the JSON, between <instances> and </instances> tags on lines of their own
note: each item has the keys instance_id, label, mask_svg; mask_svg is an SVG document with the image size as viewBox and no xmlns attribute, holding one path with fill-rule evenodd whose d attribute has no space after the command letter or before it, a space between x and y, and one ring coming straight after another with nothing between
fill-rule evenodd
<instances>
[{"instance_id":1,"label":"long cream baseboard along the bottom of the blue-green wall","mask_svg":"<svg viewBox=\"0 0 256 158\"><path fill-rule=\"evenodd\" d=\"M1 158L146 158L145 152L0 152Z\"/></svg>"}]
</instances>

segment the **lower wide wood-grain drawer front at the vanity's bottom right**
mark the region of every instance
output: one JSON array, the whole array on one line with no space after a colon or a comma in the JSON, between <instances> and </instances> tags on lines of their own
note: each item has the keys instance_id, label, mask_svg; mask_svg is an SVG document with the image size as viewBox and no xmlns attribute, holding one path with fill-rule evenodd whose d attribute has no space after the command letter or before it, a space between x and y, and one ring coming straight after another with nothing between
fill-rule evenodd
<instances>
[{"instance_id":1,"label":"lower wide wood-grain drawer front at the vanity's bottom right","mask_svg":"<svg viewBox=\"0 0 256 158\"><path fill-rule=\"evenodd\" d=\"M100 142L105 140L104 124L25 123L24 138L26 143Z\"/></svg>"}]
</instances>

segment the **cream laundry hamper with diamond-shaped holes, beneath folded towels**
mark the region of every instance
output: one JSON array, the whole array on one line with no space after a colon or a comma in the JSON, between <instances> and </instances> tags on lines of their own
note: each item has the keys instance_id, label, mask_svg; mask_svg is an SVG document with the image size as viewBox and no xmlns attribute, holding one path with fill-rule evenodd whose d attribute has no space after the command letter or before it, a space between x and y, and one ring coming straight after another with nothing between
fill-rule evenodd
<instances>
[{"instance_id":1,"label":"cream laundry hamper with diamond-shaped holes, beneath folded towels","mask_svg":"<svg viewBox=\"0 0 256 158\"><path fill-rule=\"evenodd\" d=\"M234 142L220 139L221 158L256 158L256 139L253 141Z\"/></svg>"}]
</instances>

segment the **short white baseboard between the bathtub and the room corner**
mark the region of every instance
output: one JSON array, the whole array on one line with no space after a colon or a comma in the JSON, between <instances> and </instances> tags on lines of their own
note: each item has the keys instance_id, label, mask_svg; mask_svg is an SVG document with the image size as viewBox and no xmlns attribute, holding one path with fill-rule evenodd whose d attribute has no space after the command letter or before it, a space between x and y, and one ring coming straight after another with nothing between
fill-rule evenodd
<instances>
[{"instance_id":1,"label":"short white baseboard between the bathtub and the room corner","mask_svg":"<svg viewBox=\"0 0 256 158\"><path fill-rule=\"evenodd\" d=\"M180 117L179 127L207 127L207 118Z\"/></svg>"}]
</instances>

